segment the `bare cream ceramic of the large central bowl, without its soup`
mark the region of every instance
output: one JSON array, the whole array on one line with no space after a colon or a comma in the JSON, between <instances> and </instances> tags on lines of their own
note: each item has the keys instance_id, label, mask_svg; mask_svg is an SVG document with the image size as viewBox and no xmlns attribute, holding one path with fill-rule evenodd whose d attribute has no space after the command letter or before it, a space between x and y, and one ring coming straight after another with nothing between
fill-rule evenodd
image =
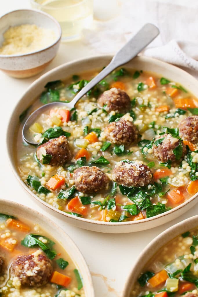
<instances>
[{"instance_id":1,"label":"bare cream ceramic of the large central bowl, without its soup","mask_svg":"<svg viewBox=\"0 0 198 297\"><path fill-rule=\"evenodd\" d=\"M72 223L73 225L93 230L97 232L105 232L105 233L127 233L127 232L135 232L145 229L150 229L159 225L162 225L166 222L169 222L176 217L181 217L182 214L188 211L191 207L193 207L196 203L197 195L194 195L189 200L177 206L170 211L167 211L163 214L159 214L155 217L139 220L139 221L131 221L131 222L118 222L118 223L108 223L108 222L98 222L98 221L91 221L88 219L80 218L80 217L73 217L69 214L66 214L56 208L53 208L36 195L31 192L30 189L24 184L21 180L18 170L15 165L14 161L14 135L15 129L19 123L19 115L25 110L34 99L41 94L44 90L44 86L48 81L57 80L57 79L65 79L66 77L71 77L73 74L78 72L93 70L93 69L100 69L101 65L107 65L110 60L112 59L111 56L98 56L92 57L82 60L77 60L74 62L63 64L55 69L47 72L46 74L42 75L39 79L37 79L31 86L27 89L25 94L22 96L18 104L15 106L14 111L11 115L9 126L7 130L7 149L8 155L10 159L10 163L12 166L12 170L15 173L18 181L20 182L21 186L26 189L26 191L35 199L37 199L40 203L47 206L49 209L52 209L54 212L62 216L62 219L65 219L67 222ZM151 59L147 57L136 57L128 64L124 65L124 67L134 68L134 69L142 69L142 70L149 70L151 72L156 72L158 74L163 75L164 77L170 78L173 81L179 82L181 85L185 86L187 89L191 90L191 92L198 97L198 85L197 80L189 75L187 72L172 66L170 64L161 62L156 59Z\"/></svg>"}]
</instances>

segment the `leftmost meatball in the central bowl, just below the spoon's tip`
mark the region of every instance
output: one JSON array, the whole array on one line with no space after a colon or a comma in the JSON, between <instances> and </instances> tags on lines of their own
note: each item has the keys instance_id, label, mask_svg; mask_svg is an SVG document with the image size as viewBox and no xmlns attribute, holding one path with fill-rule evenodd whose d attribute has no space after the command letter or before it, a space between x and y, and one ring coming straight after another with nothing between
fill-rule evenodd
<instances>
[{"instance_id":1,"label":"leftmost meatball in the central bowl, just below the spoon's tip","mask_svg":"<svg viewBox=\"0 0 198 297\"><path fill-rule=\"evenodd\" d=\"M72 159L69 143L65 136L53 138L37 148L37 158L44 165L43 155L51 155L52 158L47 162L51 166L62 166Z\"/></svg>"}]
</instances>

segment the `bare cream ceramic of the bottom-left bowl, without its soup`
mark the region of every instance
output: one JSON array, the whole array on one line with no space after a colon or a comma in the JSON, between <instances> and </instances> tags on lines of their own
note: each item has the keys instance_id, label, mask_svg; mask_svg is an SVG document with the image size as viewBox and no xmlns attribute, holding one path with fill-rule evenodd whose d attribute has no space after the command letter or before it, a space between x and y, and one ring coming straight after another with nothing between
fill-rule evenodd
<instances>
[{"instance_id":1,"label":"bare cream ceramic of the bottom-left bowl, without its soup","mask_svg":"<svg viewBox=\"0 0 198 297\"><path fill-rule=\"evenodd\" d=\"M27 206L21 204L0 199L0 211L4 214L13 215L15 217L21 217L29 219L32 222L37 222L43 230L50 230L50 235L56 239L74 261L75 265L79 268L83 277L83 284L86 297L94 297L94 288L85 259L72 239L50 219L33 210ZM47 231L49 232L49 231Z\"/></svg>"}]
</instances>

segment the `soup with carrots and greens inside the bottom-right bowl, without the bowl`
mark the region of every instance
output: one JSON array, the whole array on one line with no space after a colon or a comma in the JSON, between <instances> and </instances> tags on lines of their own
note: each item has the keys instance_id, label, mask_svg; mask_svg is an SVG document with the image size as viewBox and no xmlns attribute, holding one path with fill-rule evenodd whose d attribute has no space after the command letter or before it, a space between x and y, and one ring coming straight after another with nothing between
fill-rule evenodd
<instances>
[{"instance_id":1,"label":"soup with carrots and greens inside the bottom-right bowl, without the bowl","mask_svg":"<svg viewBox=\"0 0 198 297\"><path fill-rule=\"evenodd\" d=\"M198 228L176 237L145 266L131 297L197 297Z\"/></svg>"}]
</instances>

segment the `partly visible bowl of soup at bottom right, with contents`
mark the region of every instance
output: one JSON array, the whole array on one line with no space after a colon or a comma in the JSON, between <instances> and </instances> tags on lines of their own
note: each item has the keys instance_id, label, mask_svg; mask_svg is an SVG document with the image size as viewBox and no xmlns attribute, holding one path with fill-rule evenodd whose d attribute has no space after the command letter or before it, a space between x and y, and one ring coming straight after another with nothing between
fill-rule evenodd
<instances>
[{"instance_id":1,"label":"partly visible bowl of soup at bottom right, with contents","mask_svg":"<svg viewBox=\"0 0 198 297\"><path fill-rule=\"evenodd\" d=\"M151 241L132 268L122 297L197 296L198 216Z\"/></svg>"}]
</instances>

